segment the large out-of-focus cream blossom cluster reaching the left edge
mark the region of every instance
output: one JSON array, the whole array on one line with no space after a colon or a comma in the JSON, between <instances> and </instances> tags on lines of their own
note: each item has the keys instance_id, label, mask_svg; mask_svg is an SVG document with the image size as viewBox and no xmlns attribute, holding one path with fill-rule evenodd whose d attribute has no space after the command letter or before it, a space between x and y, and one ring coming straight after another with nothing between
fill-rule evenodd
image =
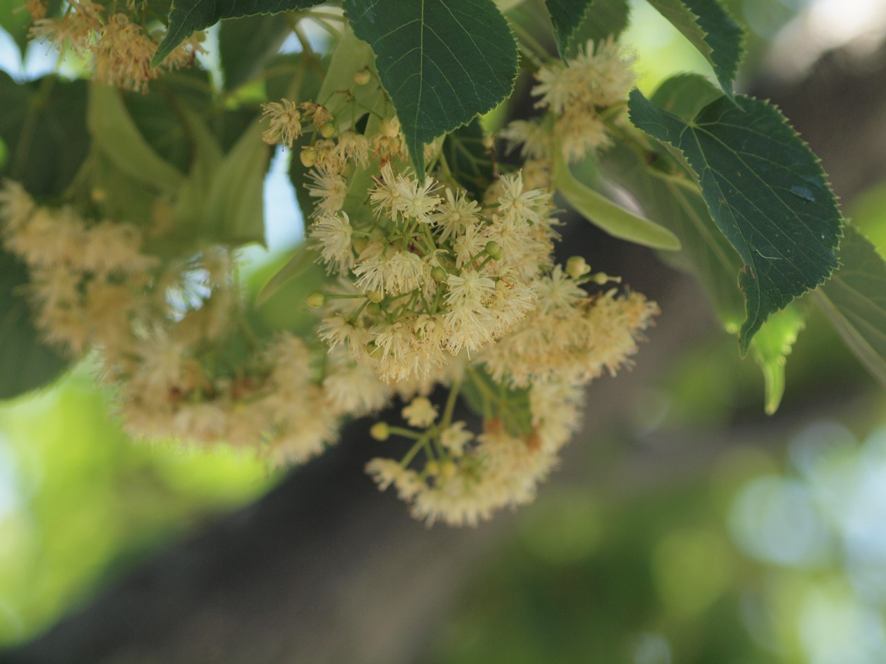
<instances>
[{"instance_id":1,"label":"large out-of-focus cream blossom cluster reaching the left edge","mask_svg":"<svg viewBox=\"0 0 886 664\"><path fill-rule=\"evenodd\" d=\"M300 461L335 441L340 415L354 414L329 398L299 338L253 342L245 359L227 351L239 303L226 248L164 262L144 252L139 228L38 206L12 181L0 189L0 238L28 268L37 327L75 357L100 351L137 436Z\"/></svg>"}]
</instances>

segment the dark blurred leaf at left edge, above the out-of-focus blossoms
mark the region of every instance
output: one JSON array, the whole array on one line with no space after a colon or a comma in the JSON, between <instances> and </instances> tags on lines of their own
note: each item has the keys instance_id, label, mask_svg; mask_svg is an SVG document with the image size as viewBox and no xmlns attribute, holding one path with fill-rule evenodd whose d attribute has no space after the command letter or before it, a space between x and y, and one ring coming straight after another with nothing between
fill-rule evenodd
<instances>
[{"instance_id":1,"label":"dark blurred leaf at left edge, above the out-of-focus blossoms","mask_svg":"<svg viewBox=\"0 0 886 664\"><path fill-rule=\"evenodd\" d=\"M32 196L58 196L89 152L86 81L44 76L17 83L0 71L0 138L8 158L0 175Z\"/></svg>"}]
</instances>

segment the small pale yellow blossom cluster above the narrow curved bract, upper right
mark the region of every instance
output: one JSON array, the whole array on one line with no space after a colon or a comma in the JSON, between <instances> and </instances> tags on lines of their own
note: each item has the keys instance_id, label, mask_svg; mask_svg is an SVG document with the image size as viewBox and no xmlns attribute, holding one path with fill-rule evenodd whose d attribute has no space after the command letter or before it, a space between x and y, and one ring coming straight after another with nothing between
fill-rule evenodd
<instances>
[{"instance_id":1,"label":"small pale yellow blossom cluster above the narrow curved bract, upper right","mask_svg":"<svg viewBox=\"0 0 886 664\"><path fill-rule=\"evenodd\" d=\"M548 110L540 120L514 120L501 132L512 144L523 144L525 158L546 160L555 145L563 157L575 163L587 154L608 146L601 111L622 104L633 88L633 58L626 57L611 39L587 42L575 58L541 67L539 84L532 94L540 97L537 108Z\"/></svg>"}]
</instances>

